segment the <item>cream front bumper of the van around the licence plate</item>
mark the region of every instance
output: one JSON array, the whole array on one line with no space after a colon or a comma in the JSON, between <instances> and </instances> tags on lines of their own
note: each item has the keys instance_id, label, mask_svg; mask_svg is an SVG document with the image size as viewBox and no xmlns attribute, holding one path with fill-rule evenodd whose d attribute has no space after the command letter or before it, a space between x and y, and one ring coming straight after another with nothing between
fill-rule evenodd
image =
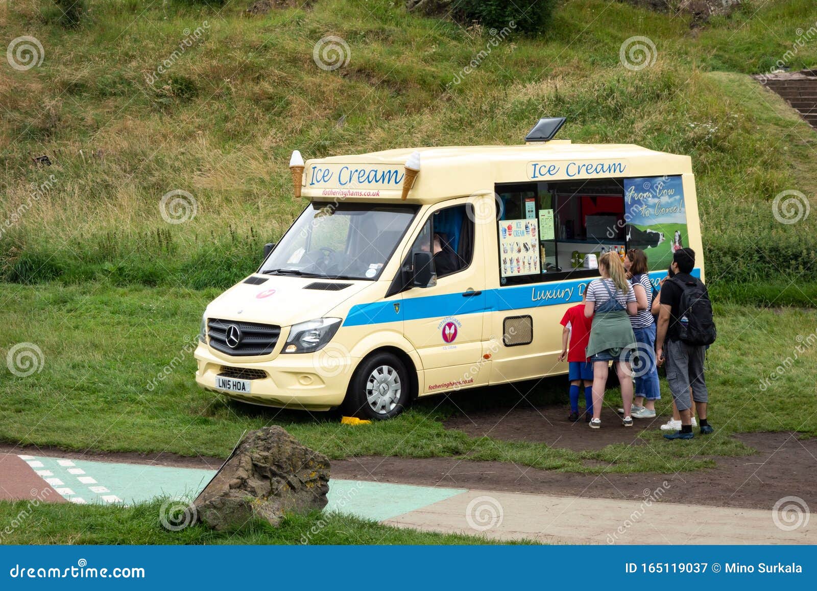
<instances>
[{"instance_id":1,"label":"cream front bumper of the van around the licence plate","mask_svg":"<svg viewBox=\"0 0 817 591\"><path fill-rule=\"evenodd\" d=\"M206 390L251 404L303 410L329 410L341 405L359 361L350 358L348 362L326 367L325 357L318 351L245 363L238 358L225 360L223 356L215 356L203 343L196 348L195 358L198 362L196 383ZM250 380L249 393L220 390L216 387L216 377L224 367L260 369L266 372L266 377Z\"/></svg>"}]
</instances>

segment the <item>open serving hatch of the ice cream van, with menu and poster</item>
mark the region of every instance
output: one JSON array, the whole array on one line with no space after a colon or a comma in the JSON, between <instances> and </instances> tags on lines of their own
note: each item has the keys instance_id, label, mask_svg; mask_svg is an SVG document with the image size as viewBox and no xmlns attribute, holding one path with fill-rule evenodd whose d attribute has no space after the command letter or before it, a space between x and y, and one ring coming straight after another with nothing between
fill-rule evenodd
<instances>
[{"instance_id":1,"label":"open serving hatch of the ice cream van, with menu and poster","mask_svg":"<svg viewBox=\"0 0 817 591\"><path fill-rule=\"evenodd\" d=\"M598 275L598 258L647 254L650 271L666 269L689 245L680 175L525 182L495 187L500 282L538 283Z\"/></svg>"}]
</instances>

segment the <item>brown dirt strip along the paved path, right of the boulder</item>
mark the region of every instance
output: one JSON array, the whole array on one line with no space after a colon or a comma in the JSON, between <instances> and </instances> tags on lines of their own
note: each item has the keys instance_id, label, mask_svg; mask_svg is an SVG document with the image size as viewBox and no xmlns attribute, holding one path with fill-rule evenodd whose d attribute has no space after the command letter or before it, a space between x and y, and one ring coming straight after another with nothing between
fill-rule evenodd
<instances>
[{"instance_id":1,"label":"brown dirt strip along the paved path, right of the boulder","mask_svg":"<svg viewBox=\"0 0 817 591\"><path fill-rule=\"evenodd\" d=\"M791 433L751 433L738 438L758 454L719 457L717 468L677 475L576 474L462 458L362 457L333 460L332 476L623 500L644 499L661 487L660 499L672 503L761 509L770 509L779 499L793 495L817 508L817 439L799 441Z\"/></svg>"}]
</instances>

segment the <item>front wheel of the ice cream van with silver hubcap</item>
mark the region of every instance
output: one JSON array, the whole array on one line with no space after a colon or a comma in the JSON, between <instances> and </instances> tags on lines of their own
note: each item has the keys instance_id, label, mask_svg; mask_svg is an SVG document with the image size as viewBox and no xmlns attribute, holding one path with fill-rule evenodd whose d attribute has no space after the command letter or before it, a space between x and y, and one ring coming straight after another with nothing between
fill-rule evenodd
<instances>
[{"instance_id":1,"label":"front wheel of the ice cream van with silver hubcap","mask_svg":"<svg viewBox=\"0 0 817 591\"><path fill-rule=\"evenodd\" d=\"M391 353L377 353L355 370L343 410L359 419L385 421L402 413L410 400L411 381L403 361Z\"/></svg>"}]
</instances>

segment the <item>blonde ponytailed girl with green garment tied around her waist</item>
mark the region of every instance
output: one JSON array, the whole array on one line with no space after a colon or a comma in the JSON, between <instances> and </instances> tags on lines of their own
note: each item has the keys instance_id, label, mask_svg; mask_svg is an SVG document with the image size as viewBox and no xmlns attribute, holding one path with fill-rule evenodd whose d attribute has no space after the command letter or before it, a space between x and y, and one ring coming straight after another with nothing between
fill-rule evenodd
<instances>
[{"instance_id":1,"label":"blonde ponytailed girl with green garment tied around her waist","mask_svg":"<svg viewBox=\"0 0 817 591\"><path fill-rule=\"evenodd\" d=\"M590 427L601 427L601 405L604 404L610 361L616 362L623 407L627 409L622 424L632 427L630 356L636 351L636 335L632 332L630 316L638 314L636 294L627 282L627 271L624 271L617 254L601 255L599 273L601 279L593 280L587 287L584 308L584 316L593 319L587 343L587 360L593 363L593 418Z\"/></svg>"}]
</instances>

